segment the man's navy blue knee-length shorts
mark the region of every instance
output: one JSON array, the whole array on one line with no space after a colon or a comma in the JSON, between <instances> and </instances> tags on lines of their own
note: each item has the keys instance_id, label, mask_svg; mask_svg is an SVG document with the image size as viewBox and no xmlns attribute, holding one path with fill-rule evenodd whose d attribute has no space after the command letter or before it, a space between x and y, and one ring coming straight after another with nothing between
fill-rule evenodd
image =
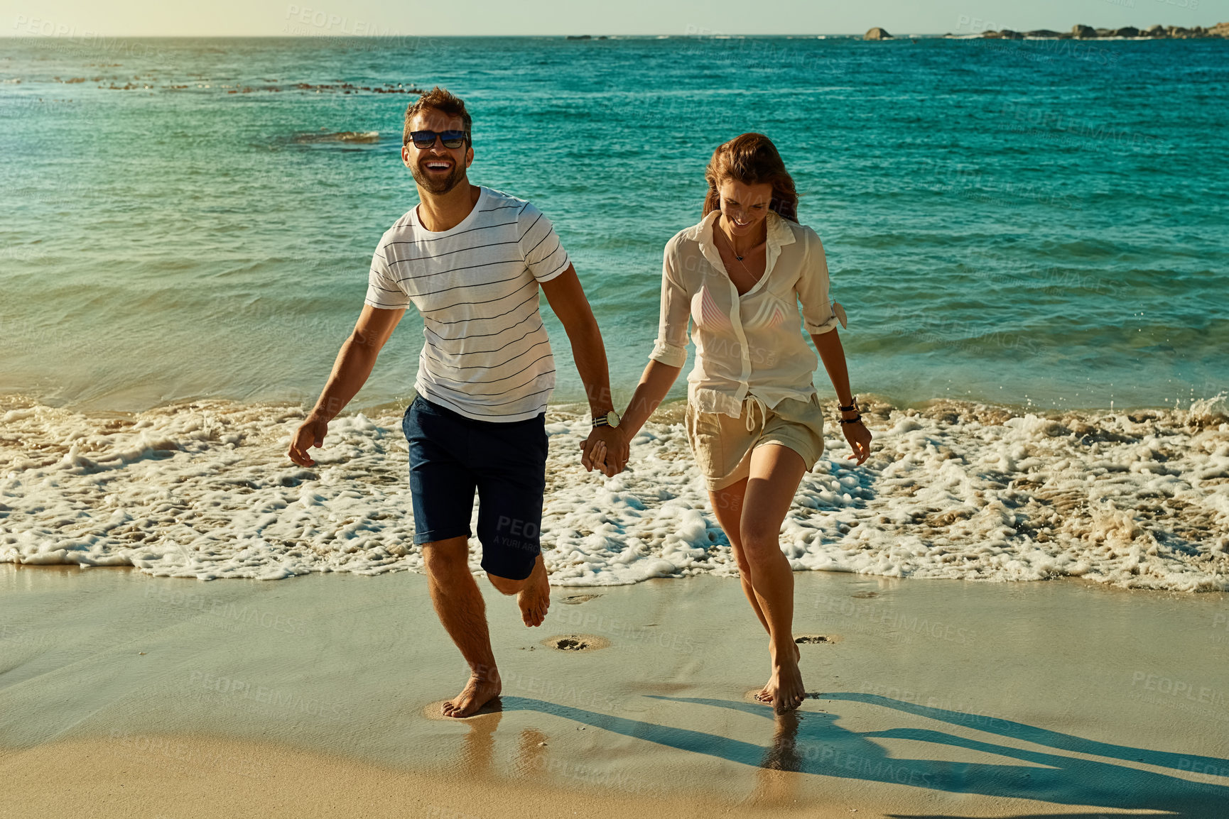
<instances>
[{"instance_id":1,"label":"man's navy blue knee-length shorts","mask_svg":"<svg viewBox=\"0 0 1229 819\"><path fill-rule=\"evenodd\" d=\"M546 415L527 421L476 421L422 395L401 427L409 442L414 543L468 538L478 490L482 567L525 580L542 551Z\"/></svg>"}]
</instances>

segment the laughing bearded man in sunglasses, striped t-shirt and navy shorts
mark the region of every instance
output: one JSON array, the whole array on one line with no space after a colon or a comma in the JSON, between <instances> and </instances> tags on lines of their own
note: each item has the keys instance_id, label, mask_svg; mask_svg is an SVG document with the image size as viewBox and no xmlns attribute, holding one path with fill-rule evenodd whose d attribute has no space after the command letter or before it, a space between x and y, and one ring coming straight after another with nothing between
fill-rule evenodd
<instances>
[{"instance_id":1,"label":"laughing bearded man in sunglasses, striped t-shirt and navy shorts","mask_svg":"<svg viewBox=\"0 0 1229 819\"><path fill-rule=\"evenodd\" d=\"M554 363L538 312L538 287L571 341L595 426L581 446L618 444L606 350L576 271L551 221L530 203L469 184L471 118L439 87L406 109L402 161L420 204L383 235L371 260L363 313L315 409L290 443L290 459L313 465L308 447L371 375L380 349L409 305L423 316L418 397L402 429L409 441L414 543L423 549L435 611L469 663L469 680L444 713L467 717L499 696L482 593L469 573L468 538L478 491L482 567L516 594L527 626L551 603L538 529L546 489L544 409Z\"/></svg>"}]
</instances>

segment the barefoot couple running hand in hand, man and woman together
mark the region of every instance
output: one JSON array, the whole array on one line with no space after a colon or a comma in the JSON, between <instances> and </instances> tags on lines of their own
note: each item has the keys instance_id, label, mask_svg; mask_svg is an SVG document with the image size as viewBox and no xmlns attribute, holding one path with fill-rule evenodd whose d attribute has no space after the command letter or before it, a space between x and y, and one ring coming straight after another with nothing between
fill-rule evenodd
<instances>
[{"instance_id":1,"label":"barefoot couple running hand in hand, man and woman together","mask_svg":"<svg viewBox=\"0 0 1229 819\"><path fill-rule=\"evenodd\" d=\"M606 475L624 468L632 438L682 371L693 325L687 436L744 593L768 632L769 678L757 699L778 712L796 708L806 693L791 631L793 572L779 534L803 474L823 451L812 384L819 361L799 329L799 306L859 464L871 436L849 389L836 333L844 316L828 300L823 246L798 223L794 182L772 141L744 134L713 152L703 219L666 243L658 341L622 416L610 403L597 323L551 221L524 199L469 184L465 103L441 88L412 103L402 160L420 204L381 238L363 313L288 454L313 465L308 447L323 444L328 421L358 393L413 305L425 335L418 397L402 420L414 543L436 614L471 672L444 713L469 716L500 693L485 605L468 564L474 491L488 580L516 594L528 626L541 625L549 605L540 527L554 362L540 290L563 323L590 397L594 429L581 462Z\"/></svg>"}]
</instances>

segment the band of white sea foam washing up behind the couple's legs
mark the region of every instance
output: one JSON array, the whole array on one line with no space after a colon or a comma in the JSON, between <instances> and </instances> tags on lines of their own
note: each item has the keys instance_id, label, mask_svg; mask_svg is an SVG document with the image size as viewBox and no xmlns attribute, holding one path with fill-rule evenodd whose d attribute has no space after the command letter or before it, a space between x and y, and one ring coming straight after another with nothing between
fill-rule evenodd
<instances>
[{"instance_id":1,"label":"band of white sea foam washing up behind the couple's legs","mask_svg":"<svg viewBox=\"0 0 1229 819\"><path fill-rule=\"evenodd\" d=\"M782 550L795 570L1225 591L1225 413L1223 395L1047 415L871 404L870 459L847 462L828 426ZM285 456L302 415L198 402L97 417L2 399L0 562L198 580L420 571L399 415L336 419L311 469ZM586 417L552 409L542 544L553 584L737 573L680 420L677 405L659 413L630 469L606 479L579 463Z\"/></svg>"}]
</instances>

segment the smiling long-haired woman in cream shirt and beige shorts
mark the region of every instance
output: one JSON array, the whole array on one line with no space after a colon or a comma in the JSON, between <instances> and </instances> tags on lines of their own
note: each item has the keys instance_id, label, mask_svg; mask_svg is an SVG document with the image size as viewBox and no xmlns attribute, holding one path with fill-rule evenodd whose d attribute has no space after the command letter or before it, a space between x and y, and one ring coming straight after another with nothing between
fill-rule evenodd
<instances>
[{"instance_id":1,"label":"smiling long-haired woman in cream shirt and beige shorts","mask_svg":"<svg viewBox=\"0 0 1229 819\"><path fill-rule=\"evenodd\" d=\"M734 548L742 591L768 631L772 673L756 699L779 713L806 696L780 524L803 474L823 452L823 411L812 384L819 362L799 332L799 303L839 399L850 459L859 464L870 454L870 432L849 392L823 246L798 223L794 180L775 146L762 134L732 139L713 152L704 178L704 219L666 243L649 366L617 438L608 449L595 446L585 460L603 464L607 474L623 469L630 440L682 371L688 319L694 322L687 437Z\"/></svg>"}]
</instances>

